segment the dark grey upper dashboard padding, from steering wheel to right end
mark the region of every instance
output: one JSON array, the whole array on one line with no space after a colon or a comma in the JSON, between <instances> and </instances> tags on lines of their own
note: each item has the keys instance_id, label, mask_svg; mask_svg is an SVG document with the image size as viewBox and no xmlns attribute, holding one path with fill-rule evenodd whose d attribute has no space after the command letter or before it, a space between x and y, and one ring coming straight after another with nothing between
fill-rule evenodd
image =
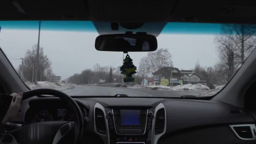
<instances>
[{"instance_id":1,"label":"dark grey upper dashboard padding, from steering wheel to right end","mask_svg":"<svg viewBox=\"0 0 256 144\"><path fill-rule=\"evenodd\" d=\"M37 98L32 101L56 98ZM104 107L152 107L163 103L167 115L167 132L204 125L254 123L253 117L245 110L209 100L158 99L158 98L77 98L80 103L92 109L96 102ZM239 110L243 110L243 113ZM92 116L90 110L89 116Z\"/></svg>"}]
</instances>

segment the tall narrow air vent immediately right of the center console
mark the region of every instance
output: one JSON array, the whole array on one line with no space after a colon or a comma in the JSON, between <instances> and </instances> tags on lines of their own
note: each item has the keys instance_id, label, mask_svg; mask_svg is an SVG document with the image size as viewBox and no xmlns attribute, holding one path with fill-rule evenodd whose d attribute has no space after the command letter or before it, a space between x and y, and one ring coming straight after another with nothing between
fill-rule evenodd
<instances>
[{"instance_id":1,"label":"tall narrow air vent immediately right of the center console","mask_svg":"<svg viewBox=\"0 0 256 144\"><path fill-rule=\"evenodd\" d=\"M163 133L165 128L165 109L161 108L157 111L155 117L155 135Z\"/></svg>"}]
</instances>

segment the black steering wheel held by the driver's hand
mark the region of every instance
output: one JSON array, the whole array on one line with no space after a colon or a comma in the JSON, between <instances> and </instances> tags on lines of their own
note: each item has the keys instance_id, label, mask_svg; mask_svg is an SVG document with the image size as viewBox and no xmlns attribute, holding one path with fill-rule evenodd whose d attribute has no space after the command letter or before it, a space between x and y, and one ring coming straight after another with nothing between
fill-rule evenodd
<instances>
[{"instance_id":1,"label":"black steering wheel held by the driver's hand","mask_svg":"<svg viewBox=\"0 0 256 144\"><path fill-rule=\"evenodd\" d=\"M70 110L74 113L74 122L67 121L52 121L52 122L40 122L25 125L10 134L13 135L16 140L21 144L59 144L61 142L67 142L65 137L70 133L75 134L75 138L72 139L73 144L78 144L83 136L83 114L77 103L67 94L53 90L53 89L35 89L23 93L24 98L29 98L38 95L51 95L59 97L67 104ZM47 104L45 104L47 105Z\"/></svg>"}]
</instances>

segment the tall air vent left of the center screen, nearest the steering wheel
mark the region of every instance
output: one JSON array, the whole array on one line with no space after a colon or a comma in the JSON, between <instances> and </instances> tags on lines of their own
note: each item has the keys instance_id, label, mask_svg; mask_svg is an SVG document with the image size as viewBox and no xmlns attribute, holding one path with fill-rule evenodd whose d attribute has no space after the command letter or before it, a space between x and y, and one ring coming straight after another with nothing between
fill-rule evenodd
<instances>
[{"instance_id":1,"label":"tall air vent left of the center screen, nearest the steering wheel","mask_svg":"<svg viewBox=\"0 0 256 144\"><path fill-rule=\"evenodd\" d=\"M104 112L99 108L95 108L95 125L98 133L104 134L104 135L106 134L106 123L105 123Z\"/></svg>"}]
</instances>

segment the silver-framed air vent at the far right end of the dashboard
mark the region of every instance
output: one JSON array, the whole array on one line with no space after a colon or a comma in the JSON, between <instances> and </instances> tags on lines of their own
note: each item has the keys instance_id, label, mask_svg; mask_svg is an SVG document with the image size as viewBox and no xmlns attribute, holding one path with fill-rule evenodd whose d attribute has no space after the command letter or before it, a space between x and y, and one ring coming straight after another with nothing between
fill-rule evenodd
<instances>
[{"instance_id":1,"label":"silver-framed air vent at the far right end of the dashboard","mask_svg":"<svg viewBox=\"0 0 256 144\"><path fill-rule=\"evenodd\" d=\"M252 139L253 133L250 126L235 126L233 127L238 136L244 139Z\"/></svg>"}]
</instances>

